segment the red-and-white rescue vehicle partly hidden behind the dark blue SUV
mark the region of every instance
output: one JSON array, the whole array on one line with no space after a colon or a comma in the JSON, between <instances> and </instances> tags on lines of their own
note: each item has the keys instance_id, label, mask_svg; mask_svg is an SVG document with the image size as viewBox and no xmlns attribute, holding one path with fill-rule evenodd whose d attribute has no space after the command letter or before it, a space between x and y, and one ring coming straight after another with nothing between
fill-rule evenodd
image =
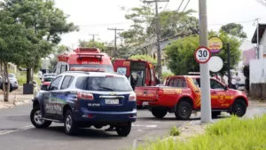
<instances>
[{"instance_id":1,"label":"red-and-white rescue vehicle partly hidden behind the dark blue SUV","mask_svg":"<svg viewBox=\"0 0 266 150\"><path fill-rule=\"evenodd\" d=\"M77 48L59 55L56 74L65 71L96 71L113 73L110 57L98 48Z\"/></svg>"}]
</instances>

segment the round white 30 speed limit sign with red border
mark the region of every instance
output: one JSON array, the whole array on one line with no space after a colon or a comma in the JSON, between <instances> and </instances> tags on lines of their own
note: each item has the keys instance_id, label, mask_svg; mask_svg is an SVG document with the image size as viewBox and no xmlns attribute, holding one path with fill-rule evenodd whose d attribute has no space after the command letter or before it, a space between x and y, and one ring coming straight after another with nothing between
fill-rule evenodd
<instances>
[{"instance_id":1,"label":"round white 30 speed limit sign with red border","mask_svg":"<svg viewBox=\"0 0 266 150\"><path fill-rule=\"evenodd\" d=\"M211 58L211 52L208 50L205 46L200 46L198 49L194 52L194 58L197 62L200 64L207 63L207 61Z\"/></svg>"}]
</instances>

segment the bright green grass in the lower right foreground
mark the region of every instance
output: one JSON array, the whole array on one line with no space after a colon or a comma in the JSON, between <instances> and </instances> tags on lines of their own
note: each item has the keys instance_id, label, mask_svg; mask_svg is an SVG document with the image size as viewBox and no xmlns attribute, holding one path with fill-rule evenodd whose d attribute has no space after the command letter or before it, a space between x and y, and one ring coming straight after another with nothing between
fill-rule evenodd
<instances>
[{"instance_id":1,"label":"bright green grass in the lower right foreground","mask_svg":"<svg viewBox=\"0 0 266 150\"><path fill-rule=\"evenodd\" d=\"M137 150L266 150L266 114L254 119L232 116L207 127L205 134L180 141L159 140Z\"/></svg>"}]
</instances>

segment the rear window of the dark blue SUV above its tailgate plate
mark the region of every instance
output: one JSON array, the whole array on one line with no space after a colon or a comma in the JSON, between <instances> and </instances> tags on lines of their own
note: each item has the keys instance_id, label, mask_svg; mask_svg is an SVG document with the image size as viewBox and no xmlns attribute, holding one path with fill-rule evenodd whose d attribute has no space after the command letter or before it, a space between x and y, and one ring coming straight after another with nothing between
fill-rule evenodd
<instances>
[{"instance_id":1,"label":"rear window of the dark blue SUV above its tailgate plate","mask_svg":"<svg viewBox=\"0 0 266 150\"><path fill-rule=\"evenodd\" d=\"M82 76L75 87L85 91L132 91L126 78L113 76Z\"/></svg>"}]
</instances>

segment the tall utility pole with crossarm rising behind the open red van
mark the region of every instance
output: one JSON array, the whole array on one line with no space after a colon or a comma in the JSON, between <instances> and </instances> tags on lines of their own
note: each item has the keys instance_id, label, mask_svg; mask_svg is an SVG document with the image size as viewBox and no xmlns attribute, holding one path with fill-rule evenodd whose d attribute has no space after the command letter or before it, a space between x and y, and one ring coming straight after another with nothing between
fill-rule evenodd
<instances>
[{"instance_id":1,"label":"tall utility pole with crossarm rising behind the open red van","mask_svg":"<svg viewBox=\"0 0 266 150\"><path fill-rule=\"evenodd\" d=\"M169 2L168 0L144 1L144 3L155 3L155 22L156 22L156 37L157 37L157 70L158 78L161 79L161 55L160 55L160 22L158 13L158 2Z\"/></svg>"}]
</instances>

